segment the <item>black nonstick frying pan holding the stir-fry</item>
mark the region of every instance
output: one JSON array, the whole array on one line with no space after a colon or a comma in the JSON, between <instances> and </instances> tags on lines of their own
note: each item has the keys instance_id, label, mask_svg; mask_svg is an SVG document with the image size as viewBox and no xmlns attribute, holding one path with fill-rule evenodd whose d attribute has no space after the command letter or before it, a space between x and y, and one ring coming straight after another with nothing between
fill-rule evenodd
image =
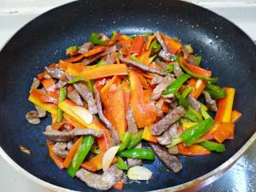
<instances>
[{"instance_id":1,"label":"black nonstick frying pan holding the stir-fry","mask_svg":"<svg viewBox=\"0 0 256 192\"><path fill-rule=\"evenodd\" d=\"M54 165L42 135L50 118L39 126L28 124L25 114L34 108L27 97L32 78L44 66L65 58L66 47L81 45L90 33L110 34L113 30L124 34L160 30L180 38L183 43L190 43L194 52L202 55L202 66L219 77L218 84L236 89L234 109L242 112L242 119L236 123L235 138L225 142L224 153L192 158L180 156L183 169L178 174L167 170L158 159L146 162L145 166L154 172L154 179L126 184L124 191L189 187L195 190L218 178L256 138L256 46L225 18L178 1L72 2L42 14L19 30L0 53L2 156L28 178L50 190L93 190ZM26 146L31 154L20 151L19 145Z\"/></svg>"}]
</instances>

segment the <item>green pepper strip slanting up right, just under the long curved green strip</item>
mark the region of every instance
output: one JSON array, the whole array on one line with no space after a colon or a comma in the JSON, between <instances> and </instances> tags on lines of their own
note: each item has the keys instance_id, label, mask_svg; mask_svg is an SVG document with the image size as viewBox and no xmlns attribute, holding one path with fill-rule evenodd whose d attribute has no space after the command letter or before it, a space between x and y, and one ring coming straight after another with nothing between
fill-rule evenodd
<instances>
[{"instance_id":1,"label":"green pepper strip slanting up right, just under the long curved green strip","mask_svg":"<svg viewBox=\"0 0 256 192\"><path fill-rule=\"evenodd\" d=\"M189 78L191 78L188 74L182 74L178 78L171 82L169 86L167 86L166 90L163 92L164 95L166 94L175 94L181 88L184 82L186 82Z\"/></svg>"}]
</instances>

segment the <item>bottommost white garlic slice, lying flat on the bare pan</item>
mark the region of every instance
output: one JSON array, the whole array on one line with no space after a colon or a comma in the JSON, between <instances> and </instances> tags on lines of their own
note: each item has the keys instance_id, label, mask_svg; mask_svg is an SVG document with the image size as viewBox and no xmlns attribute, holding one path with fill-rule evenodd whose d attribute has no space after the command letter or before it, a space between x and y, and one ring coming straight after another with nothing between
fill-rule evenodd
<instances>
[{"instance_id":1,"label":"bottommost white garlic slice, lying flat on the bare pan","mask_svg":"<svg viewBox=\"0 0 256 192\"><path fill-rule=\"evenodd\" d=\"M128 170L127 175L131 180L149 180L152 178L151 170L146 169L144 166L131 167Z\"/></svg>"}]
</instances>

